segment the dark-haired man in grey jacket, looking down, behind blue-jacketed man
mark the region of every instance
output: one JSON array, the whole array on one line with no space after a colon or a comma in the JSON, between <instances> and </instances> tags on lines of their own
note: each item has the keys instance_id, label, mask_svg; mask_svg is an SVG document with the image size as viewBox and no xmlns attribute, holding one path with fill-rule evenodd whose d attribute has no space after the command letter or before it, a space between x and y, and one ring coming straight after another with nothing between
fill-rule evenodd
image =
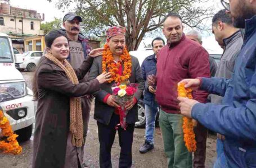
<instances>
[{"instance_id":1,"label":"dark-haired man in grey jacket, looking down, behind blue-jacketed man","mask_svg":"<svg viewBox=\"0 0 256 168\"><path fill-rule=\"evenodd\" d=\"M239 55L242 44L244 43L241 32L236 27L233 27L232 19L230 15L226 13L226 10L221 10L214 15L212 20L212 32L218 44L224 46L224 52L215 77L231 78L237 55ZM212 103L221 104L221 102L221 96L212 95ZM224 157L220 157L224 155L222 144L224 136L221 134L217 134L217 136L217 161L215 162L215 167L219 167L218 163L223 165L223 163L226 162L223 160Z\"/></svg>"}]
</instances>

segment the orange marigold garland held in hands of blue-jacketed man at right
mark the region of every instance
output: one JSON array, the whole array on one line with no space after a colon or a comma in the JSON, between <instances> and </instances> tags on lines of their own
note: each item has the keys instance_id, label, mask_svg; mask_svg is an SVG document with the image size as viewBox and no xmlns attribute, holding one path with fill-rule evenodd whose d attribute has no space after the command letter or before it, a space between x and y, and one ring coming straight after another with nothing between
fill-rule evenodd
<instances>
[{"instance_id":1,"label":"orange marigold garland held in hands of blue-jacketed man at right","mask_svg":"<svg viewBox=\"0 0 256 168\"><path fill-rule=\"evenodd\" d=\"M187 97L188 99L192 99L192 90L191 88L185 88L185 83L181 83L178 85L178 96L179 97ZM194 123L191 118L183 117L183 133L184 133L184 142L189 152L196 151L196 140L194 133Z\"/></svg>"}]
</instances>

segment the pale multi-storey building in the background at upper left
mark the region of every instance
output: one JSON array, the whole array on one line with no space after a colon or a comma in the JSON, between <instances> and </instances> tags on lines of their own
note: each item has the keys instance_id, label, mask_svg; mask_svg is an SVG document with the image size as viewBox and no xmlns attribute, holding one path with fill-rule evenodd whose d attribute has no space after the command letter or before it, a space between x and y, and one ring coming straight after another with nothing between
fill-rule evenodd
<instances>
[{"instance_id":1,"label":"pale multi-storey building in the background at upper left","mask_svg":"<svg viewBox=\"0 0 256 168\"><path fill-rule=\"evenodd\" d=\"M40 30L43 20L44 14L12 7L10 0L0 0L0 32L10 36L19 53L44 50L44 32ZM89 40L89 44L93 49L100 48L100 41Z\"/></svg>"}]
</instances>

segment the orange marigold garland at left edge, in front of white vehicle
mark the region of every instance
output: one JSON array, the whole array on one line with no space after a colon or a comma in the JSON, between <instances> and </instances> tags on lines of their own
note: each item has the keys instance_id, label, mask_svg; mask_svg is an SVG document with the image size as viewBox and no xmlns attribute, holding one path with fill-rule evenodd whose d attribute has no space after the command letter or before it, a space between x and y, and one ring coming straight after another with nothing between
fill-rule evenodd
<instances>
[{"instance_id":1,"label":"orange marigold garland at left edge, in front of white vehicle","mask_svg":"<svg viewBox=\"0 0 256 168\"><path fill-rule=\"evenodd\" d=\"M0 151L3 151L3 153L13 153L15 155L20 154L22 148L16 140L18 136L12 131L10 122L3 115L2 110L0 110L0 129L2 129L2 136L7 138L7 141L0 141Z\"/></svg>"}]
</instances>

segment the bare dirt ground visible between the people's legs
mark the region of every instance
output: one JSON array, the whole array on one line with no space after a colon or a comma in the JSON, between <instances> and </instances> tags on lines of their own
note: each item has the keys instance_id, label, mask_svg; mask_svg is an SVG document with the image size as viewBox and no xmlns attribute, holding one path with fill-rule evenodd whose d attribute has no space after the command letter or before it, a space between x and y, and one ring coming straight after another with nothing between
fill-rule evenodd
<instances>
[{"instance_id":1,"label":"bare dirt ground visible between the people's legs","mask_svg":"<svg viewBox=\"0 0 256 168\"><path fill-rule=\"evenodd\" d=\"M84 159L89 167L99 167L98 166L98 156L99 156L99 143L97 136L97 125L96 121L93 119L93 111L91 111L90 122L89 122L89 133L86 140L86 153ZM206 146L206 161L205 167L213 167L213 163L216 157L216 137L209 135L207 138ZM161 137L160 128L157 127L155 130L155 148L145 154L141 154L138 150L142 143L145 141L145 129L135 129L134 139L132 146L132 156L133 156L133 166L132 167L167 167L167 158L165 157L163 141ZM113 167L118 167L119 161L119 142L118 134L116 133L115 142L113 144L111 158Z\"/></svg>"}]
</instances>

